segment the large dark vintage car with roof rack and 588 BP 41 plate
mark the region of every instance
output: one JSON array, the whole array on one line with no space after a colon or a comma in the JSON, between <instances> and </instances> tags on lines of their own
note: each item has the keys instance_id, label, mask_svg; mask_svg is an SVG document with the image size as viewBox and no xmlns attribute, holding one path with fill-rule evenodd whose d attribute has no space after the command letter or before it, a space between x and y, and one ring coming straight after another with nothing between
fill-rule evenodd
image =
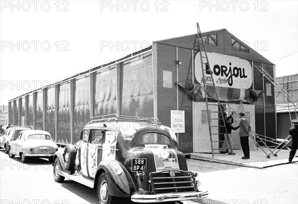
<instances>
[{"instance_id":1,"label":"large dark vintage car with roof rack and 588 BP 41 plate","mask_svg":"<svg viewBox=\"0 0 298 204\"><path fill-rule=\"evenodd\" d=\"M161 203L205 198L188 171L175 133L157 118L91 119L75 146L55 153L53 175L96 189L100 204Z\"/></svg>"}]
</instances>

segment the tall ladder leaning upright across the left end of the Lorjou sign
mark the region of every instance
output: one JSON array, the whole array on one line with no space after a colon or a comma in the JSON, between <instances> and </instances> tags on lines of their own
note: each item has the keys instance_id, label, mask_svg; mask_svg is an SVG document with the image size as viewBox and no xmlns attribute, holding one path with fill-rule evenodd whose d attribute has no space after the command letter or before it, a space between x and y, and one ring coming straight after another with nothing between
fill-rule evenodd
<instances>
[{"instance_id":1,"label":"tall ladder leaning upright across the left end of the Lorjou sign","mask_svg":"<svg viewBox=\"0 0 298 204\"><path fill-rule=\"evenodd\" d=\"M216 89L216 86L215 86L215 83L214 83L213 72L211 71L211 66L210 66L210 63L209 63L209 60L208 60L208 57L207 57L207 53L206 53L204 44L203 44L203 38L202 38L199 23L197 23L197 32L198 32L198 41L199 41L198 42L198 45L199 45L198 47L199 47L199 53L200 53L200 59L201 59L201 68L202 68L205 100L206 100L206 109L207 109L207 118L208 118L208 127L209 127L209 134L210 134L212 157L214 158L214 150L220 150L221 149L221 148L214 148L213 143L214 142L220 142L220 141L228 142L228 144L229 144L228 146L230 147L230 153L233 155L233 147L231 145L231 141L230 141L230 138L227 134L227 129L226 129L226 126L225 126L224 113L223 113L223 110L222 110L222 104L219 101L219 97L218 97L218 93L217 93L218 90ZM202 45L200 45L200 43L202 43ZM204 62L203 62L203 59L204 59ZM211 78L212 83L209 82L208 85L207 85L207 82L205 80L205 75L210 76L209 78ZM211 96L213 96L213 97L208 97L208 94L210 94L210 93L214 93L214 94L211 94ZM214 102L213 103L209 102L208 98L211 99L211 100L217 101L217 104L214 104ZM209 106L216 106L217 111L209 111ZM217 116L220 113L221 118L218 118L218 117L217 118L212 118L212 115L214 115L212 113L217 113ZM212 124L213 121L218 121L219 125L216 125L216 126L213 125ZM224 130L224 133L214 133L215 132L214 129L217 130L218 128L221 128L222 130ZM215 135L226 135L227 140L216 140L216 141L214 141L212 137L215 136Z\"/></svg>"}]
</instances>

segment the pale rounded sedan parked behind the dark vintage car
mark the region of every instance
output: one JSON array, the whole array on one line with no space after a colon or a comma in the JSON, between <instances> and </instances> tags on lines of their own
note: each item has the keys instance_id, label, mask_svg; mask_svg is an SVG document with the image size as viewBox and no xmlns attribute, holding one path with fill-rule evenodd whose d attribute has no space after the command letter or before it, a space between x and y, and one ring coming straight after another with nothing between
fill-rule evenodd
<instances>
[{"instance_id":1,"label":"pale rounded sedan parked behind the dark vintage car","mask_svg":"<svg viewBox=\"0 0 298 204\"><path fill-rule=\"evenodd\" d=\"M8 156L10 158L15 155L20 156L22 163L25 163L28 157L48 158L50 162L53 162L56 151L58 151L58 146L46 131L22 131L17 139L8 145Z\"/></svg>"}]
</instances>

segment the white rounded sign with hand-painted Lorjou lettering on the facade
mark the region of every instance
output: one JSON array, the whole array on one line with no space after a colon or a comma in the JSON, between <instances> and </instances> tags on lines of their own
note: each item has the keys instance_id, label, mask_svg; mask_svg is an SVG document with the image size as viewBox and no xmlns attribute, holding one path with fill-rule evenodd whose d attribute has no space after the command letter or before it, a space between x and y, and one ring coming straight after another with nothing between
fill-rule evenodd
<instances>
[{"instance_id":1,"label":"white rounded sign with hand-painted Lorjou lettering on the facade","mask_svg":"<svg viewBox=\"0 0 298 204\"><path fill-rule=\"evenodd\" d=\"M215 86L239 89L251 87L252 68L247 60L216 53L207 53L207 57L211 66L206 65L207 59L203 58L203 67L207 70L203 79L200 53L195 56L195 77L199 83L203 84L205 80L206 84L212 84L212 72Z\"/></svg>"}]
</instances>

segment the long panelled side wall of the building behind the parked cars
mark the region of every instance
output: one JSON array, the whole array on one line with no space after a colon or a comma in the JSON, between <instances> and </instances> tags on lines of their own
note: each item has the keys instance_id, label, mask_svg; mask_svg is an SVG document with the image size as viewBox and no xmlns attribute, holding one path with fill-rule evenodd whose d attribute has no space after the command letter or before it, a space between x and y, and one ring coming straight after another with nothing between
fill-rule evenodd
<instances>
[{"instance_id":1,"label":"long panelled side wall of the building behind the parked cars","mask_svg":"<svg viewBox=\"0 0 298 204\"><path fill-rule=\"evenodd\" d=\"M153 117L151 48L111 64L9 101L9 123L45 130L57 143L74 144L90 117Z\"/></svg>"}]
</instances>

